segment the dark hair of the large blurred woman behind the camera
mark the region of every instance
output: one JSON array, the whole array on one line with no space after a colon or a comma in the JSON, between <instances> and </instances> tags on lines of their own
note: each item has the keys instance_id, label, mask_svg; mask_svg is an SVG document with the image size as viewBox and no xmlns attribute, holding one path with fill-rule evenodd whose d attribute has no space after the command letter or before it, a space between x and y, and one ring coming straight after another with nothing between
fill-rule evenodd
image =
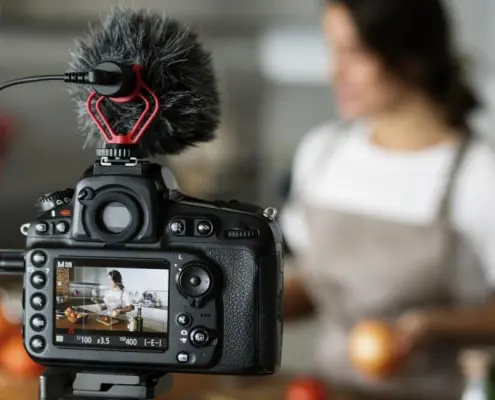
<instances>
[{"instance_id":1,"label":"dark hair of the large blurred woman behind the camera","mask_svg":"<svg viewBox=\"0 0 495 400\"><path fill-rule=\"evenodd\" d=\"M452 127L470 132L469 116L480 101L464 76L441 0L326 1L346 7L363 43L393 75L440 104Z\"/></svg>"}]
</instances>

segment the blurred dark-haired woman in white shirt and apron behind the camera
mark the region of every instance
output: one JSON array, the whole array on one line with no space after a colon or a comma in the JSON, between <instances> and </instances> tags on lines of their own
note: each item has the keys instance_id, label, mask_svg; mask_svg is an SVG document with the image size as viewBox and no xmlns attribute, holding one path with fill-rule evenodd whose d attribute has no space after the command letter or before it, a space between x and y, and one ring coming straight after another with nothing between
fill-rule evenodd
<instances>
[{"instance_id":1,"label":"blurred dark-haired woman in white shirt and apron behind the camera","mask_svg":"<svg viewBox=\"0 0 495 400\"><path fill-rule=\"evenodd\" d=\"M282 227L298 271L291 320L315 311L315 362L334 386L456 399L457 350L495 342L495 157L473 136L479 105L440 0L330 0L323 27L343 122L302 140ZM403 365L363 377L349 334L398 331ZM375 398L375 397L372 397Z\"/></svg>"}]
</instances>

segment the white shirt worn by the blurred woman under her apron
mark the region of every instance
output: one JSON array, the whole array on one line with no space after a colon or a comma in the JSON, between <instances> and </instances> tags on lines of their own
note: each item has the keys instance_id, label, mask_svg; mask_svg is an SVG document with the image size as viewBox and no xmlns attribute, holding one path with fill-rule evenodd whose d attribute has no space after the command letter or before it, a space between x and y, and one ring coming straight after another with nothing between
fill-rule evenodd
<instances>
[{"instance_id":1,"label":"white shirt worn by the blurred woman under her apron","mask_svg":"<svg viewBox=\"0 0 495 400\"><path fill-rule=\"evenodd\" d=\"M348 132L339 126L339 133L325 125L306 135L296 152L293 195L332 210L425 225L438 218L456 152L455 144L387 150L372 144L365 125ZM452 226L470 241L495 285L495 155L479 139L459 170L451 207ZM295 203L280 222L289 246L307 246L309 227Z\"/></svg>"}]
</instances>

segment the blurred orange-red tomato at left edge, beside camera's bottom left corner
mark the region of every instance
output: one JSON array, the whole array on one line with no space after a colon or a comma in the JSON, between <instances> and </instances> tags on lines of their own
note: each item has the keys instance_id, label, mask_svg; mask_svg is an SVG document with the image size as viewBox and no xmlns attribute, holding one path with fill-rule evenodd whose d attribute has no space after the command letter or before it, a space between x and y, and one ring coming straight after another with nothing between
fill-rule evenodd
<instances>
[{"instance_id":1,"label":"blurred orange-red tomato at left edge, beside camera's bottom left corner","mask_svg":"<svg viewBox=\"0 0 495 400\"><path fill-rule=\"evenodd\" d=\"M43 367L29 357L20 336L14 336L5 343L0 352L0 365L4 371L14 377L35 377Z\"/></svg>"}]
</instances>

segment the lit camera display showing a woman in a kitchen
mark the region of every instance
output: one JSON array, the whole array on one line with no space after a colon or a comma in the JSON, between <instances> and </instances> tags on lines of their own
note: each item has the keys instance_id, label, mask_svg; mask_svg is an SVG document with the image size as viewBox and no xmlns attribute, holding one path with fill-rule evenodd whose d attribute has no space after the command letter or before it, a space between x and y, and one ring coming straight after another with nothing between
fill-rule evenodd
<instances>
[{"instance_id":1,"label":"lit camera display showing a woman in a kitchen","mask_svg":"<svg viewBox=\"0 0 495 400\"><path fill-rule=\"evenodd\" d=\"M55 345L168 347L168 264L58 259L55 267Z\"/></svg>"}]
</instances>

